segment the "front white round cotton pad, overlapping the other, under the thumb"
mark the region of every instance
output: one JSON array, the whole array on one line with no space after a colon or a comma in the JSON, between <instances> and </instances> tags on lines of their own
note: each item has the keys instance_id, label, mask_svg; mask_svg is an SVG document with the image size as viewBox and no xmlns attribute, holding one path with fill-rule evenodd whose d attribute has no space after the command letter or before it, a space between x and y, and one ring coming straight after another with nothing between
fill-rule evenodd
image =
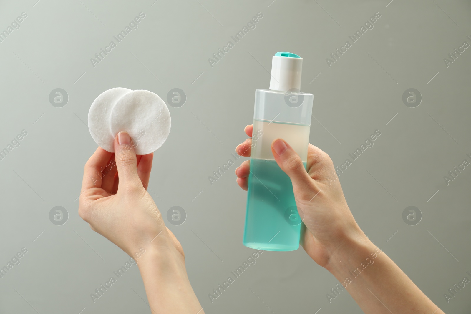
<instances>
[{"instance_id":1,"label":"front white round cotton pad, overlapping the other, under the thumb","mask_svg":"<svg viewBox=\"0 0 471 314\"><path fill-rule=\"evenodd\" d=\"M170 112L158 95L138 89L124 94L111 110L111 136L129 133L138 155L156 151L170 133Z\"/></svg>"}]
</instances>

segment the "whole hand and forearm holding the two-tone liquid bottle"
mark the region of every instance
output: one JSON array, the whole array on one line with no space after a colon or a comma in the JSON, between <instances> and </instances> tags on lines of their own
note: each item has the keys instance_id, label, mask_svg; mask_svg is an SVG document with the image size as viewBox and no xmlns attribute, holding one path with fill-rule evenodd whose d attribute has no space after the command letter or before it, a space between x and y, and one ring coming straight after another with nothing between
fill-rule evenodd
<instances>
[{"instance_id":1,"label":"whole hand and forearm holding the two-tone liquid bottle","mask_svg":"<svg viewBox=\"0 0 471 314\"><path fill-rule=\"evenodd\" d=\"M245 133L252 136L252 125ZM252 139L238 145L241 156L250 156ZM282 139L271 145L278 166L290 177L296 206L306 226L301 244L320 266L341 283L337 292L349 291L365 314L444 314L406 274L379 250L355 222L330 157L309 144L307 169ZM247 190L250 162L235 169L237 183ZM352 271L353 270L353 271ZM361 276L360 276L361 274ZM326 295L329 302L336 294Z\"/></svg>"}]
</instances>

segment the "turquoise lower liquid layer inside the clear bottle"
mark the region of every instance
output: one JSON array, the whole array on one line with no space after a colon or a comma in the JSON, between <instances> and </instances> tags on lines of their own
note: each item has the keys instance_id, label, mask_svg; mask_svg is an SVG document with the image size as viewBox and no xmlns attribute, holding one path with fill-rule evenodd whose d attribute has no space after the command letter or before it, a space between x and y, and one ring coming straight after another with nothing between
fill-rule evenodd
<instances>
[{"instance_id":1,"label":"turquoise lower liquid layer inside the clear bottle","mask_svg":"<svg viewBox=\"0 0 471 314\"><path fill-rule=\"evenodd\" d=\"M276 161L252 158L243 244L259 250L297 250L300 227L291 179Z\"/></svg>"}]
</instances>

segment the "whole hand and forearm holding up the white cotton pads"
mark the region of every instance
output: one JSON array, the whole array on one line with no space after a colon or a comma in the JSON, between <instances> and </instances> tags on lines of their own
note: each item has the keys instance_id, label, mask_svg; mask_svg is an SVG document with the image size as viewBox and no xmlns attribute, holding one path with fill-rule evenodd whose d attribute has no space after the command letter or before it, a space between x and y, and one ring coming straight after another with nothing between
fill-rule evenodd
<instances>
[{"instance_id":1,"label":"whole hand and forearm holding up the white cotton pads","mask_svg":"<svg viewBox=\"0 0 471 314\"><path fill-rule=\"evenodd\" d=\"M181 245L146 191L153 154L136 156L125 132L114 139L114 152L98 147L87 161L80 217L137 260L153 314L204 314Z\"/></svg>"}]
</instances>

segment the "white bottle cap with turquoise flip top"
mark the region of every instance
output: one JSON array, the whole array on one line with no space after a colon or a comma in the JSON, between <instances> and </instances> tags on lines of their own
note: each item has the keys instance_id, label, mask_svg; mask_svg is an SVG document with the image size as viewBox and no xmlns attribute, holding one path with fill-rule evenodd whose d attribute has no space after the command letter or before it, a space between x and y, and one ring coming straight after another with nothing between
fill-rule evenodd
<instances>
[{"instance_id":1,"label":"white bottle cap with turquoise flip top","mask_svg":"<svg viewBox=\"0 0 471 314\"><path fill-rule=\"evenodd\" d=\"M291 52L277 52L271 63L270 89L301 90L302 58Z\"/></svg>"}]
</instances>

